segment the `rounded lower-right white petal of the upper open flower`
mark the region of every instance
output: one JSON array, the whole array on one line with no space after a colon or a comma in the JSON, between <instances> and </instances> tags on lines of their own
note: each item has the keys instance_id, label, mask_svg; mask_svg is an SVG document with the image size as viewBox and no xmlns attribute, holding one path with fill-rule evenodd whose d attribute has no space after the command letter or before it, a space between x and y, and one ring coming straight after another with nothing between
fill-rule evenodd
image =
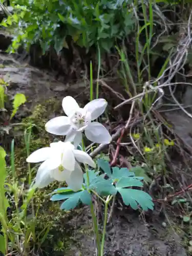
<instances>
[{"instance_id":1,"label":"rounded lower-right white petal of the upper open flower","mask_svg":"<svg viewBox=\"0 0 192 256\"><path fill-rule=\"evenodd\" d=\"M108 130L98 122L89 124L85 130L85 134L89 140L99 144L109 144L112 140Z\"/></svg>"}]
</instances>

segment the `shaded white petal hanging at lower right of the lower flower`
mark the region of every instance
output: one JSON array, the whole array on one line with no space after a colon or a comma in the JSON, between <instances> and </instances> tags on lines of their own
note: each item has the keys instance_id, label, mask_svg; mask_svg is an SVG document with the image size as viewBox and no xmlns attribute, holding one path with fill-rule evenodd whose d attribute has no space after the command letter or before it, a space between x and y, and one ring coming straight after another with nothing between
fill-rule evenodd
<instances>
[{"instance_id":1,"label":"shaded white petal hanging at lower right of the lower flower","mask_svg":"<svg viewBox=\"0 0 192 256\"><path fill-rule=\"evenodd\" d=\"M79 164L76 162L75 169L71 172L71 175L66 179L68 186L77 191L82 188L83 183L83 172Z\"/></svg>"}]
</instances>

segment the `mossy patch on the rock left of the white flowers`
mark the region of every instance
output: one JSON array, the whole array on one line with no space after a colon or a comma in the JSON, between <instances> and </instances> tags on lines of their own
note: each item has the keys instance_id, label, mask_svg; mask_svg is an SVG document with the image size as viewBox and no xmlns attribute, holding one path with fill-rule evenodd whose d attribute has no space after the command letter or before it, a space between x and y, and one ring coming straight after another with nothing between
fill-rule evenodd
<instances>
[{"instance_id":1,"label":"mossy patch on the rock left of the white flowers","mask_svg":"<svg viewBox=\"0 0 192 256\"><path fill-rule=\"evenodd\" d=\"M38 148L48 146L50 141L53 140L53 136L46 132L45 124L50 119L50 116L54 112L58 112L60 109L60 102L54 98L46 100L41 104L37 104L34 107L32 115L22 120L24 124L22 127L15 127L15 165L17 167L17 175L26 175L26 141L25 133L31 132L30 138L30 152L37 150ZM30 130L31 129L31 130Z\"/></svg>"}]
</instances>

